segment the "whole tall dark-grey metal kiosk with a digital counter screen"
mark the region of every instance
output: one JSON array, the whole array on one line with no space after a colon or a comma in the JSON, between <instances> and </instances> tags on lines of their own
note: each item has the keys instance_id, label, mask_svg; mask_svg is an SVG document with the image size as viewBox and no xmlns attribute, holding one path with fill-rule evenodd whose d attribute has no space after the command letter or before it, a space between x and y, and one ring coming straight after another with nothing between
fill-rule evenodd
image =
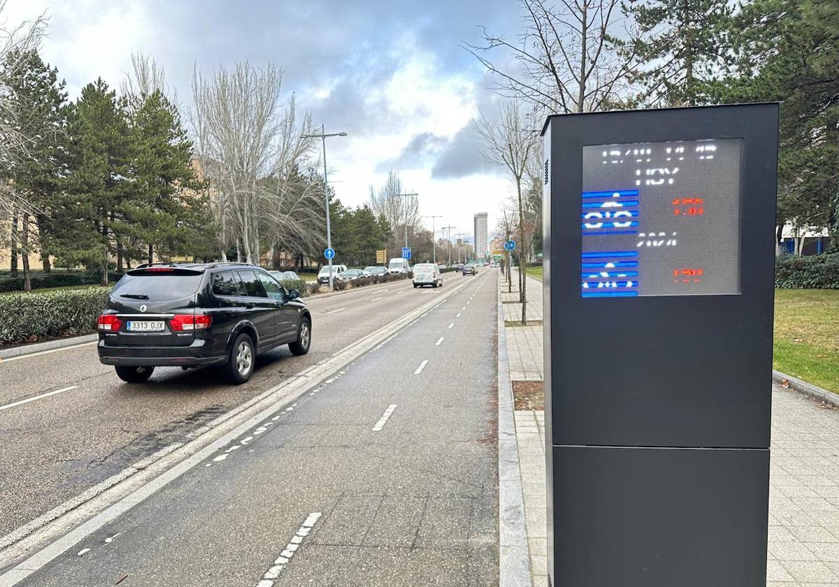
<instances>
[{"instance_id":1,"label":"whole tall dark-grey metal kiosk with a digital counter screen","mask_svg":"<svg viewBox=\"0 0 839 587\"><path fill-rule=\"evenodd\" d=\"M764 587L778 105L549 117L555 587Z\"/></svg>"}]
</instances>

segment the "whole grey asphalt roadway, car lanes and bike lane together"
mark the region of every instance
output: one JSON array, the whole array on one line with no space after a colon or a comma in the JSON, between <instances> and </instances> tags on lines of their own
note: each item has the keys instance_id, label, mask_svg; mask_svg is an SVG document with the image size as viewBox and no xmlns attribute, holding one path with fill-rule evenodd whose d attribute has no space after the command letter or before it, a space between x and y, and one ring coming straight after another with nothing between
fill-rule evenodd
<instances>
[{"instance_id":1,"label":"whole grey asphalt roadway, car lanes and bike lane together","mask_svg":"<svg viewBox=\"0 0 839 587\"><path fill-rule=\"evenodd\" d=\"M0 585L497 584L497 279L446 278L311 300L310 354L269 353L239 387L209 369L128 386L92 345L0 363L0 532L13 532L369 345L150 477L143 500L76 520L17 568L5 561Z\"/></svg>"}]
</instances>

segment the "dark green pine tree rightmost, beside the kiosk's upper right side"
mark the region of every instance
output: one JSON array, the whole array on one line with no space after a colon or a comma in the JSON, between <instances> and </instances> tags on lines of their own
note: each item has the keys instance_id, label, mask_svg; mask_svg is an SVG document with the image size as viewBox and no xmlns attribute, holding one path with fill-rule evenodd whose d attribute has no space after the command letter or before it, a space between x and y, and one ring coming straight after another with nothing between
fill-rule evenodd
<instances>
[{"instance_id":1,"label":"dark green pine tree rightmost, beside the kiosk's upper right side","mask_svg":"<svg viewBox=\"0 0 839 587\"><path fill-rule=\"evenodd\" d=\"M777 235L784 222L827 228L839 206L839 5L754 0L731 23L736 61L720 102L781 101ZM799 247L800 249L800 247Z\"/></svg>"}]
</instances>

